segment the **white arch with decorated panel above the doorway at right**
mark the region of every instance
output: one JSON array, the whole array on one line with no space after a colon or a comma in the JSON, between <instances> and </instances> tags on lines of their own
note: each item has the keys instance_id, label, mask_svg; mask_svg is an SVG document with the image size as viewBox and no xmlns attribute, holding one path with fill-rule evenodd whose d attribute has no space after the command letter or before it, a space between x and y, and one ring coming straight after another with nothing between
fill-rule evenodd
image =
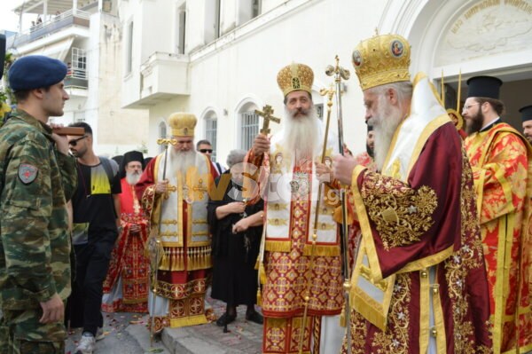
<instances>
[{"instance_id":1,"label":"white arch with decorated panel above the doorway at right","mask_svg":"<svg viewBox=\"0 0 532 354\"><path fill-rule=\"evenodd\" d=\"M405 36L412 46L411 73L426 72L437 87L443 73L450 100L460 71L461 101L468 78L503 80L504 119L521 131L518 111L532 104L532 0L389 0L379 33Z\"/></svg>"}]
</instances>

